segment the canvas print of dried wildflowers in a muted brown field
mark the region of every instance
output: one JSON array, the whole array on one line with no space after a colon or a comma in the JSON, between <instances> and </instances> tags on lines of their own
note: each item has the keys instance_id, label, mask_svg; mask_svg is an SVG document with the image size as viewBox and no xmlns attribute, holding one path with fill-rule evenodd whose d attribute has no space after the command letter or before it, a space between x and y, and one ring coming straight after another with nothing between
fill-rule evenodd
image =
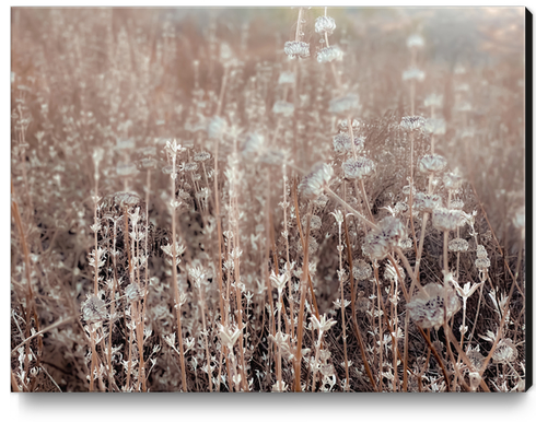
<instances>
[{"instance_id":1,"label":"canvas print of dried wildflowers in a muted brown field","mask_svg":"<svg viewBox=\"0 0 536 422\"><path fill-rule=\"evenodd\" d=\"M11 391L525 391L527 17L12 8Z\"/></svg>"}]
</instances>

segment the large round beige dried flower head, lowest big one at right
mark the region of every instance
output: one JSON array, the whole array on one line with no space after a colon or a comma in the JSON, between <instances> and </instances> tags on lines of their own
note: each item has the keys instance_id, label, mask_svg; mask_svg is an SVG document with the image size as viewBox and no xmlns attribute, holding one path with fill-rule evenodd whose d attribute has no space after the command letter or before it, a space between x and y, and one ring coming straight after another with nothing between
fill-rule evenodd
<instances>
[{"instance_id":1,"label":"large round beige dried flower head, lowest big one at right","mask_svg":"<svg viewBox=\"0 0 536 422\"><path fill-rule=\"evenodd\" d=\"M419 327L439 329L445 318L445 307L446 319L450 319L459 310L461 303L451 288L429 283L406 306L409 316Z\"/></svg>"}]
</instances>

